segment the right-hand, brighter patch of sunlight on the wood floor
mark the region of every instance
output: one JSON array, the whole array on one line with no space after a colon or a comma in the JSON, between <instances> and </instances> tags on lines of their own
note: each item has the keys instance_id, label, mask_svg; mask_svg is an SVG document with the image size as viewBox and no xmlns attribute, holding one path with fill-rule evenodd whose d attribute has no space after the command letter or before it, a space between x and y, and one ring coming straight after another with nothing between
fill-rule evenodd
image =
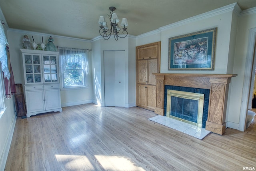
<instances>
[{"instance_id":1,"label":"right-hand, brighter patch of sunlight on the wood floor","mask_svg":"<svg viewBox=\"0 0 256 171\"><path fill-rule=\"evenodd\" d=\"M105 170L114 171L144 171L142 167L135 166L130 159L119 156L95 155L97 161Z\"/></svg>"}]
</instances>

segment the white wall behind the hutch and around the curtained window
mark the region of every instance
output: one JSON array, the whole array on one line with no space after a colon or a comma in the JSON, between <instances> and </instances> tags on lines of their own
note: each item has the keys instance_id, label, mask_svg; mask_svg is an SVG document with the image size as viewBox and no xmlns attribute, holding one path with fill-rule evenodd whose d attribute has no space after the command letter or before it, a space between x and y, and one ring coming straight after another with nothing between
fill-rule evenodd
<instances>
[{"instance_id":1,"label":"white wall behind the hutch and around the curtained window","mask_svg":"<svg viewBox=\"0 0 256 171\"><path fill-rule=\"evenodd\" d=\"M8 42L10 45L10 56L11 64L14 73L14 81L16 84L24 85L24 76L22 73L22 54L20 48L22 48L22 40L24 35L28 35L30 41L32 42L32 36L36 42L47 42L50 36L53 36L55 46L67 47L67 48L80 48L80 49L90 49L91 42L88 40L82 40L77 38L68 38L56 35L47 35L37 32L28 32L24 30L8 30ZM89 63L91 63L91 53L88 52ZM89 65L91 67L91 65ZM89 68L89 74L87 76L88 87L75 88L75 89L61 89L61 105L62 107L79 105L84 103L91 103L93 99L92 91L92 70ZM76 94L76 95L74 95Z\"/></svg>"}]
</instances>

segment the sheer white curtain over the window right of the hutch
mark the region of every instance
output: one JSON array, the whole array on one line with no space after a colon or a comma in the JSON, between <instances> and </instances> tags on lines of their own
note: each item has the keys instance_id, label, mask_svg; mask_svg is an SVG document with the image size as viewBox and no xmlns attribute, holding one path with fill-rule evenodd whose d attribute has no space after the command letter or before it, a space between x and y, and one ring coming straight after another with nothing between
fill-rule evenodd
<instances>
[{"instance_id":1,"label":"sheer white curtain over the window right of the hutch","mask_svg":"<svg viewBox=\"0 0 256 171\"><path fill-rule=\"evenodd\" d=\"M66 65L71 62L82 64L82 69L88 74L88 50L58 47L60 56L60 74L66 70Z\"/></svg>"}]
</instances>

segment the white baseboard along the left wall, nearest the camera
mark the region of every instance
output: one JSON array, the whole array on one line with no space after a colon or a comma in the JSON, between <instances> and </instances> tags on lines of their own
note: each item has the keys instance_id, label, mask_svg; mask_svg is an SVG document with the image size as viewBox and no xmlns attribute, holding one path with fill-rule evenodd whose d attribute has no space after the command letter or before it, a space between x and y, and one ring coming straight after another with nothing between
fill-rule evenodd
<instances>
[{"instance_id":1,"label":"white baseboard along the left wall, nearest the camera","mask_svg":"<svg viewBox=\"0 0 256 171\"><path fill-rule=\"evenodd\" d=\"M14 113L14 117L12 119L12 125L10 127L9 134L8 134L8 139L7 139L6 143L4 144L4 151L3 151L1 159L0 159L0 171L3 171L5 168L5 165L6 165L8 153L9 153L11 143L12 143L12 136L14 133L16 118L17 118L16 113Z\"/></svg>"}]
</instances>

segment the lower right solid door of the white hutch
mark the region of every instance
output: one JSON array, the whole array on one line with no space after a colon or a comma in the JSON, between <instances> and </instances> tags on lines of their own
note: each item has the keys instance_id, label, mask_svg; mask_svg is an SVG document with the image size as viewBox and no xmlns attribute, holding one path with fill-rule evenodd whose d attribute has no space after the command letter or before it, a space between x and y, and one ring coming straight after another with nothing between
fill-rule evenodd
<instances>
[{"instance_id":1,"label":"lower right solid door of the white hutch","mask_svg":"<svg viewBox=\"0 0 256 171\"><path fill-rule=\"evenodd\" d=\"M45 109L58 109L60 104L60 89L44 89Z\"/></svg>"}]
</instances>

